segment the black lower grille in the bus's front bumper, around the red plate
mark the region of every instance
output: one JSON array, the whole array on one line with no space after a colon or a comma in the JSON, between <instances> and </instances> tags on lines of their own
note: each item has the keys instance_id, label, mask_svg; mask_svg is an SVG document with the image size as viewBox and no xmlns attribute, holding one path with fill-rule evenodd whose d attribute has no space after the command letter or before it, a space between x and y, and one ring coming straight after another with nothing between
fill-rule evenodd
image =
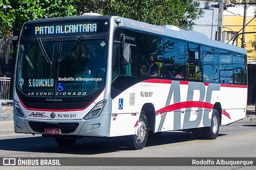
<instances>
[{"instance_id":1,"label":"black lower grille in the bus's front bumper, around the red plate","mask_svg":"<svg viewBox=\"0 0 256 170\"><path fill-rule=\"evenodd\" d=\"M73 133L76 131L79 123L48 123L48 122L38 122L38 121L29 121L31 129L35 132L44 133L44 129L60 129L61 133Z\"/></svg>"}]
</instances>

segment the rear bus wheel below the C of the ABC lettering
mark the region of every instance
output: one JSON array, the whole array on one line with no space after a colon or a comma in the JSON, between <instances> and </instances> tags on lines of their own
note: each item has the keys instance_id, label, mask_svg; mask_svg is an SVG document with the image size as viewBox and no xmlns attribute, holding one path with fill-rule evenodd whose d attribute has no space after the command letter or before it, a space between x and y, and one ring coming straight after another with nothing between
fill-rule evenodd
<instances>
[{"instance_id":1,"label":"rear bus wheel below the C of the ABC lettering","mask_svg":"<svg viewBox=\"0 0 256 170\"><path fill-rule=\"evenodd\" d=\"M217 109L212 111L212 120L210 127L204 127L202 133L205 139L216 139L220 129L220 115Z\"/></svg>"}]
</instances>

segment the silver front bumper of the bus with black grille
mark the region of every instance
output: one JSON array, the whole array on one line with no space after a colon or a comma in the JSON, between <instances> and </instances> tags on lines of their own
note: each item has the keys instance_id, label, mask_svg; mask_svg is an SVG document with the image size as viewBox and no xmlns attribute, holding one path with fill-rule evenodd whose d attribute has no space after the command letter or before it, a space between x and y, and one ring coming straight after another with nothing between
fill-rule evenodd
<instances>
[{"instance_id":1,"label":"silver front bumper of the bus with black grille","mask_svg":"<svg viewBox=\"0 0 256 170\"><path fill-rule=\"evenodd\" d=\"M14 114L15 133L44 135L44 129L60 129L61 135L109 137L111 114L90 120L47 120L21 118Z\"/></svg>"}]
</instances>

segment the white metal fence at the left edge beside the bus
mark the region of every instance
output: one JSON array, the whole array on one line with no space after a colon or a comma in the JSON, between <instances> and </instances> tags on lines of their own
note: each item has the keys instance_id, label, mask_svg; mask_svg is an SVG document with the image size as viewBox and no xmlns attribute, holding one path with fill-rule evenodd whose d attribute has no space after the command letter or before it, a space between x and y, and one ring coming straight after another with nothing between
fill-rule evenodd
<instances>
[{"instance_id":1,"label":"white metal fence at the left edge beside the bus","mask_svg":"<svg viewBox=\"0 0 256 170\"><path fill-rule=\"evenodd\" d=\"M0 100L10 100L10 82L11 78L0 77Z\"/></svg>"}]
</instances>

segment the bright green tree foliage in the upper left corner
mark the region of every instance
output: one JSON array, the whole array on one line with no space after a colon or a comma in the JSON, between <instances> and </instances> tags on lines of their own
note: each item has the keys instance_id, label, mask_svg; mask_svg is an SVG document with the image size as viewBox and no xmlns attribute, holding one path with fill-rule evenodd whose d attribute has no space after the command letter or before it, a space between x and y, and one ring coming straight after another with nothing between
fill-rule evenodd
<instances>
[{"instance_id":1,"label":"bright green tree foliage in the upper left corner","mask_svg":"<svg viewBox=\"0 0 256 170\"><path fill-rule=\"evenodd\" d=\"M76 10L70 0L70 15ZM0 34L19 35L25 21L68 16L68 0L0 0Z\"/></svg>"}]
</instances>

